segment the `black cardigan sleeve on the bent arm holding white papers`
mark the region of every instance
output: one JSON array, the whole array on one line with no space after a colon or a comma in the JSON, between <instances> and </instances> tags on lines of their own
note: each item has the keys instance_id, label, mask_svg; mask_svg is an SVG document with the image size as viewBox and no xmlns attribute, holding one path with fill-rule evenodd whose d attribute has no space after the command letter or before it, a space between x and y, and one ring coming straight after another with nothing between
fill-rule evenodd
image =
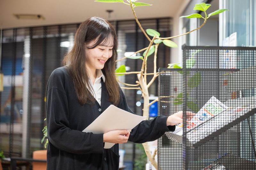
<instances>
[{"instance_id":1,"label":"black cardigan sleeve on the bent arm holding white papers","mask_svg":"<svg viewBox=\"0 0 256 170\"><path fill-rule=\"evenodd\" d=\"M46 93L46 122L49 142L75 154L103 153L103 134L85 133L69 128L68 98L61 76L52 74Z\"/></svg>"}]
</instances>

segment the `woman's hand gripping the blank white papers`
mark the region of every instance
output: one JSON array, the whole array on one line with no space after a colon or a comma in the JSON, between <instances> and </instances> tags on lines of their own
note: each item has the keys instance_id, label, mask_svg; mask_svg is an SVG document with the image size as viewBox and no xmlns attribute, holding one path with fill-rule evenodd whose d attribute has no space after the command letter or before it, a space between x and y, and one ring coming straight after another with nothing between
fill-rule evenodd
<instances>
[{"instance_id":1,"label":"woman's hand gripping the blank white papers","mask_svg":"<svg viewBox=\"0 0 256 170\"><path fill-rule=\"evenodd\" d=\"M130 135L130 130L111 130L103 134L103 142L114 144L127 143Z\"/></svg>"}]
</instances>

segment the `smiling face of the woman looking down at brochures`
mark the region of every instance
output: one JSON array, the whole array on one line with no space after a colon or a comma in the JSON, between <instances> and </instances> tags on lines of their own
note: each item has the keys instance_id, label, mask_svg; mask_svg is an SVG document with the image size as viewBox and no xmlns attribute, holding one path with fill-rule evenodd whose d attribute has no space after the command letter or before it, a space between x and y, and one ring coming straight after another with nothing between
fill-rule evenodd
<instances>
[{"instance_id":1,"label":"smiling face of the woman looking down at brochures","mask_svg":"<svg viewBox=\"0 0 256 170\"><path fill-rule=\"evenodd\" d=\"M89 46L92 46L95 41L96 40L91 41ZM91 73L96 71L96 69L103 69L104 64L113 54L113 46L113 40L109 38L104 45L98 45L92 49L85 48L86 68L89 69Z\"/></svg>"}]
</instances>

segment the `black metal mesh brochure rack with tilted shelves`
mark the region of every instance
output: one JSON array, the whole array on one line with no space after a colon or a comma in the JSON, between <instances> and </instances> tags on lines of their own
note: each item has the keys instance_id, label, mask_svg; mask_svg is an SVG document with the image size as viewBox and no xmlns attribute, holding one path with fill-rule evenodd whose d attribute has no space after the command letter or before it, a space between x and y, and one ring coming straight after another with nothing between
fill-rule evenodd
<instances>
[{"instance_id":1,"label":"black metal mesh brochure rack with tilted shelves","mask_svg":"<svg viewBox=\"0 0 256 170\"><path fill-rule=\"evenodd\" d=\"M158 140L158 169L256 169L256 48L184 46L158 89L158 113L184 118Z\"/></svg>"}]
</instances>

